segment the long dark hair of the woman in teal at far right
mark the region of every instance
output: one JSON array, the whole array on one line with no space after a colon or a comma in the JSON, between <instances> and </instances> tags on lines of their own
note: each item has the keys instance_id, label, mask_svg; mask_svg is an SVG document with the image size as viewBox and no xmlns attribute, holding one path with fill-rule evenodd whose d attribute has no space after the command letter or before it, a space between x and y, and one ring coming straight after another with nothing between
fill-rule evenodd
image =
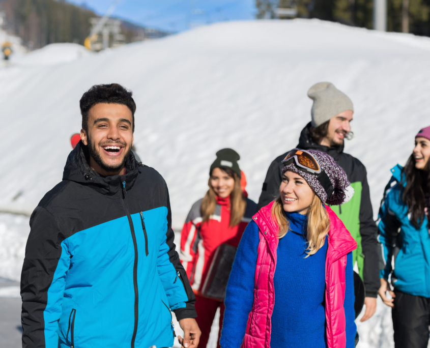
<instances>
[{"instance_id":1,"label":"long dark hair of the woman in teal at far right","mask_svg":"<svg viewBox=\"0 0 430 348\"><path fill-rule=\"evenodd\" d=\"M414 154L412 154L402 169L401 183L406 183L402 200L408 206L412 224L418 229L424 221L425 194L430 191L430 161L427 162L424 170L417 169Z\"/></svg>"}]
</instances>

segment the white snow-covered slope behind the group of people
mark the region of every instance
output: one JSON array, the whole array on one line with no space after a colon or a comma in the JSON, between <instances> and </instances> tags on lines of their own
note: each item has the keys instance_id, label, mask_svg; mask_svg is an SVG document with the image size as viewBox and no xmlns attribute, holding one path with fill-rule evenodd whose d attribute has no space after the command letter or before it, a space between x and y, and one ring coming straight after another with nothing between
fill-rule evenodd
<instances>
[{"instance_id":1,"label":"white snow-covered slope behind the group of people","mask_svg":"<svg viewBox=\"0 0 430 348\"><path fill-rule=\"evenodd\" d=\"M223 147L241 154L248 192L258 199L270 162L296 146L310 120L313 83L331 81L354 102L346 151L367 167L375 213L389 169L406 161L414 135L430 125L430 40L412 35L318 20L250 21L51 66L48 49L32 54L34 64L0 69L1 211L30 214L61 180L70 135L80 129L79 98L96 83L134 92L137 152L166 179L179 228ZM5 267L0 276L19 278ZM389 312L381 310L361 331L361 347L392 345Z\"/></svg>"}]
</instances>

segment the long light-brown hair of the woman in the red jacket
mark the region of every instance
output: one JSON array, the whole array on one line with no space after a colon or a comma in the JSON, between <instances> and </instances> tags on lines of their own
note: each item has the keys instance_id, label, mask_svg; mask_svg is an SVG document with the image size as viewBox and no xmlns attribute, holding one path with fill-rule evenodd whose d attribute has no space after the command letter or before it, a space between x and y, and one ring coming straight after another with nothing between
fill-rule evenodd
<instances>
[{"instance_id":1,"label":"long light-brown hair of the woman in the red jacket","mask_svg":"<svg viewBox=\"0 0 430 348\"><path fill-rule=\"evenodd\" d=\"M243 218L246 210L246 198L243 195L242 188L240 187L240 178L239 176L233 172L233 170L228 168L220 168L225 171L228 176L232 177L235 180L235 187L233 188L232 193L230 194L230 205L231 205L231 214L230 214L230 227L234 227L238 225ZM211 215L215 212L216 208L216 193L211 186L211 178L209 178L209 190L206 192L205 196L202 200L202 208L200 208L203 216L202 223L209 221Z\"/></svg>"}]
</instances>

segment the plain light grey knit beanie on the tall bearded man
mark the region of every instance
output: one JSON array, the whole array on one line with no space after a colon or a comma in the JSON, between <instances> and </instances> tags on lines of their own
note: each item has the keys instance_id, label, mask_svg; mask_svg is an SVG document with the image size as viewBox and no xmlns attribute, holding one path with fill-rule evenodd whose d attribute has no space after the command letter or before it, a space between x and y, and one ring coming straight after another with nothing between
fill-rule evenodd
<instances>
[{"instance_id":1,"label":"plain light grey knit beanie on the tall bearded man","mask_svg":"<svg viewBox=\"0 0 430 348\"><path fill-rule=\"evenodd\" d=\"M351 99L330 82L314 84L307 91L307 96L313 100L312 109L310 110L313 127L322 125L342 111L354 111Z\"/></svg>"}]
</instances>

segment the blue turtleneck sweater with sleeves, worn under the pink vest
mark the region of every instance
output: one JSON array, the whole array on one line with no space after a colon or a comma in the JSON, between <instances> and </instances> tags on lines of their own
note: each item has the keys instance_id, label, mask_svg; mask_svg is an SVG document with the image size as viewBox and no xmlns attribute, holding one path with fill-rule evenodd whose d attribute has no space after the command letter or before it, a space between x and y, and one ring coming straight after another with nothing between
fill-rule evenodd
<instances>
[{"instance_id":1,"label":"blue turtleneck sweater with sleeves, worn under the pink vest","mask_svg":"<svg viewBox=\"0 0 430 348\"><path fill-rule=\"evenodd\" d=\"M324 246L305 258L306 215L286 213L290 230L279 240L273 279L275 304L272 314L271 348L326 348L325 338L325 260ZM221 335L222 348L239 348L253 304L254 275L259 245L259 229L250 222L236 253L228 280ZM347 348L354 347L354 280L352 253L346 269Z\"/></svg>"}]
</instances>

